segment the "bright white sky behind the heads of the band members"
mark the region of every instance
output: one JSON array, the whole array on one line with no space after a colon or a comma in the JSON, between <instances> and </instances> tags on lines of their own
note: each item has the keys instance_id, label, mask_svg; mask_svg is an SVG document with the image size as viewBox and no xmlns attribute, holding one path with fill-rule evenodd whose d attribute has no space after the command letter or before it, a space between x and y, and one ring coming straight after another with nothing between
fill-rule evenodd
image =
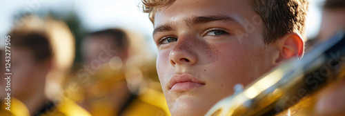
<instances>
[{"instance_id":1,"label":"bright white sky behind the heads of the band members","mask_svg":"<svg viewBox=\"0 0 345 116\"><path fill-rule=\"evenodd\" d=\"M315 37L321 23L321 5L324 0L310 0L307 20L307 36ZM104 28L127 28L142 32L152 37L153 26L148 14L138 7L140 0L1 0L0 1L0 37L4 37L12 24L12 17L17 12L46 12L75 10L87 30ZM0 41L3 45L4 41ZM149 43L153 44L152 39ZM152 49L155 49L152 48Z\"/></svg>"}]
</instances>

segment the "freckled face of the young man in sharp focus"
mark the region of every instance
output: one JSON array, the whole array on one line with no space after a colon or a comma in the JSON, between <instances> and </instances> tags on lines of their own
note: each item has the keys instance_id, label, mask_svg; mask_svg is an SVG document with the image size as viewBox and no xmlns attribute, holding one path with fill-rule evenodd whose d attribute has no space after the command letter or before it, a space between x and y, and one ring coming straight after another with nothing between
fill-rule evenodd
<instances>
[{"instance_id":1,"label":"freckled face of the young man in sharp focus","mask_svg":"<svg viewBox=\"0 0 345 116\"><path fill-rule=\"evenodd\" d=\"M264 23L246 0L184 0L155 14L157 70L172 115L204 115L270 70Z\"/></svg>"}]
</instances>

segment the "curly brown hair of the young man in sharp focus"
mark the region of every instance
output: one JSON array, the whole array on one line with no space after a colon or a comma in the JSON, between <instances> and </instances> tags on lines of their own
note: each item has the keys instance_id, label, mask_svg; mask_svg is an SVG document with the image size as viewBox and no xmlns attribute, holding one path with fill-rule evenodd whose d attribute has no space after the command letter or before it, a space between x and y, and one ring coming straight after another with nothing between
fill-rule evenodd
<instances>
[{"instance_id":1,"label":"curly brown hair of the young man in sharp focus","mask_svg":"<svg viewBox=\"0 0 345 116\"><path fill-rule=\"evenodd\" d=\"M152 23L155 23L155 13L159 8L169 6L175 0L141 0L143 11L149 13ZM304 42L306 13L308 0L250 0L253 9L264 21L263 35L265 43L272 43L289 32L302 36Z\"/></svg>"}]
</instances>

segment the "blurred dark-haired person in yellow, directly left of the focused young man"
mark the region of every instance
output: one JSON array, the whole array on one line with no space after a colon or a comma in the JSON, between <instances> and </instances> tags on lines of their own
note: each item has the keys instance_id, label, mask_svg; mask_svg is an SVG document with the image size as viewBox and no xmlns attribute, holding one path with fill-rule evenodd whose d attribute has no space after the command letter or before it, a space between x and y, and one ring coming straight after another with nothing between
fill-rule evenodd
<instances>
[{"instance_id":1,"label":"blurred dark-haired person in yellow, directly left of the focused young man","mask_svg":"<svg viewBox=\"0 0 345 116\"><path fill-rule=\"evenodd\" d=\"M92 115L169 115L144 37L128 33L106 29L83 39L72 99Z\"/></svg>"}]
</instances>

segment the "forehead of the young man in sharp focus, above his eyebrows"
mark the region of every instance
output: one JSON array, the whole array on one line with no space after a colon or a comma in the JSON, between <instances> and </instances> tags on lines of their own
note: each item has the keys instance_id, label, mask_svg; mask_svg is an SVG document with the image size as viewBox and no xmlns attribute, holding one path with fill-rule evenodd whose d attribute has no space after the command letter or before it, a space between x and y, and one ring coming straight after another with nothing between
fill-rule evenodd
<instances>
[{"instance_id":1,"label":"forehead of the young man in sharp focus, above his eyebrows","mask_svg":"<svg viewBox=\"0 0 345 116\"><path fill-rule=\"evenodd\" d=\"M164 23L174 23L204 16L228 16L237 19L239 23L253 17L249 0L177 0L168 6L159 8L155 14L155 27Z\"/></svg>"}]
</instances>

